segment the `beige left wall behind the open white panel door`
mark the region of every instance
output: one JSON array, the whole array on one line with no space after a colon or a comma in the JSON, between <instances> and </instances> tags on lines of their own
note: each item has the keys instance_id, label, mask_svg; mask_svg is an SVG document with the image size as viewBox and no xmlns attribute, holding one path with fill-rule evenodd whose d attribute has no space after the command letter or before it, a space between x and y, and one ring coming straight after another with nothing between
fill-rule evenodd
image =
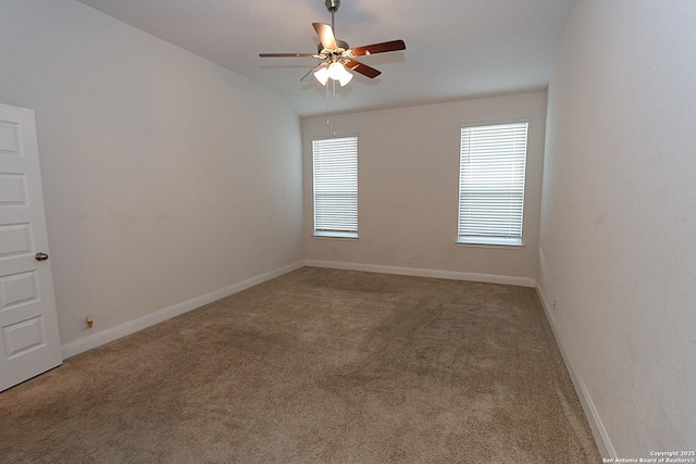
<instances>
[{"instance_id":1,"label":"beige left wall behind the open white panel door","mask_svg":"<svg viewBox=\"0 0 696 464\"><path fill-rule=\"evenodd\" d=\"M278 97L77 2L0 11L0 102L36 113L63 344L301 261L300 125Z\"/></svg>"}]
</instances>

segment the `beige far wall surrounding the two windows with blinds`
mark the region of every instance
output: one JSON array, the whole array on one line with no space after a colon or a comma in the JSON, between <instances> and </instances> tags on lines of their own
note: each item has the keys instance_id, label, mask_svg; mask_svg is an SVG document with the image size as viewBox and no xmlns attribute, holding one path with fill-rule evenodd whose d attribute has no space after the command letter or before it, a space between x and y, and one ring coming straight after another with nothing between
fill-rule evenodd
<instances>
[{"instance_id":1,"label":"beige far wall surrounding the two windows with blinds","mask_svg":"<svg viewBox=\"0 0 696 464\"><path fill-rule=\"evenodd\" d=\"M308 260L391 271L436 269L533 279L546 92L302 120L304 252ZM458 246L459 137L465 124L529 118L524 248ZM335 120L335 121L334 121ZM312 140L357 135L358 240L313 238ZM407 262L411 256L412 263Z\"/></svg>"}]
</instances>

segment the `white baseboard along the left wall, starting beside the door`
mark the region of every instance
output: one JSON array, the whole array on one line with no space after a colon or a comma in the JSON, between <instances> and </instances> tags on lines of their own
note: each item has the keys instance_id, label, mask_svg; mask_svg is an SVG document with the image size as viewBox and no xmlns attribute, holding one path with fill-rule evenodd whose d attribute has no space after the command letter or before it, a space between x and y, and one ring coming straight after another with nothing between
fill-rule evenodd
<instances>
[{"instance_id":1,"label":"white baseboard along the left wall, starting beside the door","mask_svg":"<svg viewBox=\"0 0 696 464\"><path fill-rule=\"evenodd\" d=\"M247 288L253 287L254 285L262 284L266 280L271 280L275 277L279 277L283 274L287 274L295 269L299 269L303 265L304 263L301 261L294 264L288 264L287 266L283 266L281 268L248 278L246 280L238 281L236 284L232 284L219 290L211 291L210 293L202 294L197 298L192 298L188 301L184 301L183 303L178 303L173 306L165 308L152 314L148 314L147 316L142 316L137 319L129 321L116 327L112 327L107 330L102 330L100 333L90 335L89 337L64 344L61 347L63 359L66 360L76 354L84 353L85 351L91 350L92 348L97 348L104 343L109 343L111 341L117 340L127 335L135 334L138 330L142 330L144 328L153 326L156 324L159 324L172 317L176 317L181 314L192 311L204 304L212 303L213 301L217 301L222 298L237 293L241 290L246 290Z\"/></svg>"}]
</instances>

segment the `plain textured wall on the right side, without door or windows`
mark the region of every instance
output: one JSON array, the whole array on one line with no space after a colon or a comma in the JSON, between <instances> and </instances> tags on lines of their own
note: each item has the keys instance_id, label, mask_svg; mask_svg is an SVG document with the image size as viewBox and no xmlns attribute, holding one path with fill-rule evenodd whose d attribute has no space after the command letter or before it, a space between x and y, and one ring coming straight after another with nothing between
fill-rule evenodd
<instances>
[{"instance_id":1,"label":"plain textured wall on the right side, without door or windows","mask_svg":"<svg viewBox=\"0 0 696 464\"><path fill-rule=\"evenodd\" d=\"M696 446L695 17L580 0L549 87L539 285L611 457Z\"/></svg>"}]
</instances>

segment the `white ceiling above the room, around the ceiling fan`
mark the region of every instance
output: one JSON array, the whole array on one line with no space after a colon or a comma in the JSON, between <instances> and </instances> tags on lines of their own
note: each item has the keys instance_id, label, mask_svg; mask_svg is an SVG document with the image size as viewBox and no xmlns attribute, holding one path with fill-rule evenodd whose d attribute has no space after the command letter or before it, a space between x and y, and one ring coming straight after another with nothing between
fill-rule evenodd
<instances>
[{"instance_id":1,"label":"white ceiling above the room, around the ceiling fan","mask_svg":"<svg viewBox=\"0 0 696 464\"><path fill-rule=\"evenodd\" d=\"M311 23L331 24L324 0L78 0L278 93L300 116L397 108L536 90L548 85L575 0L343 0L336 37L351 47L403 39L400 52L362 57L335 98L299 79L314 59Z\"/></svg>"}]
</instances>

